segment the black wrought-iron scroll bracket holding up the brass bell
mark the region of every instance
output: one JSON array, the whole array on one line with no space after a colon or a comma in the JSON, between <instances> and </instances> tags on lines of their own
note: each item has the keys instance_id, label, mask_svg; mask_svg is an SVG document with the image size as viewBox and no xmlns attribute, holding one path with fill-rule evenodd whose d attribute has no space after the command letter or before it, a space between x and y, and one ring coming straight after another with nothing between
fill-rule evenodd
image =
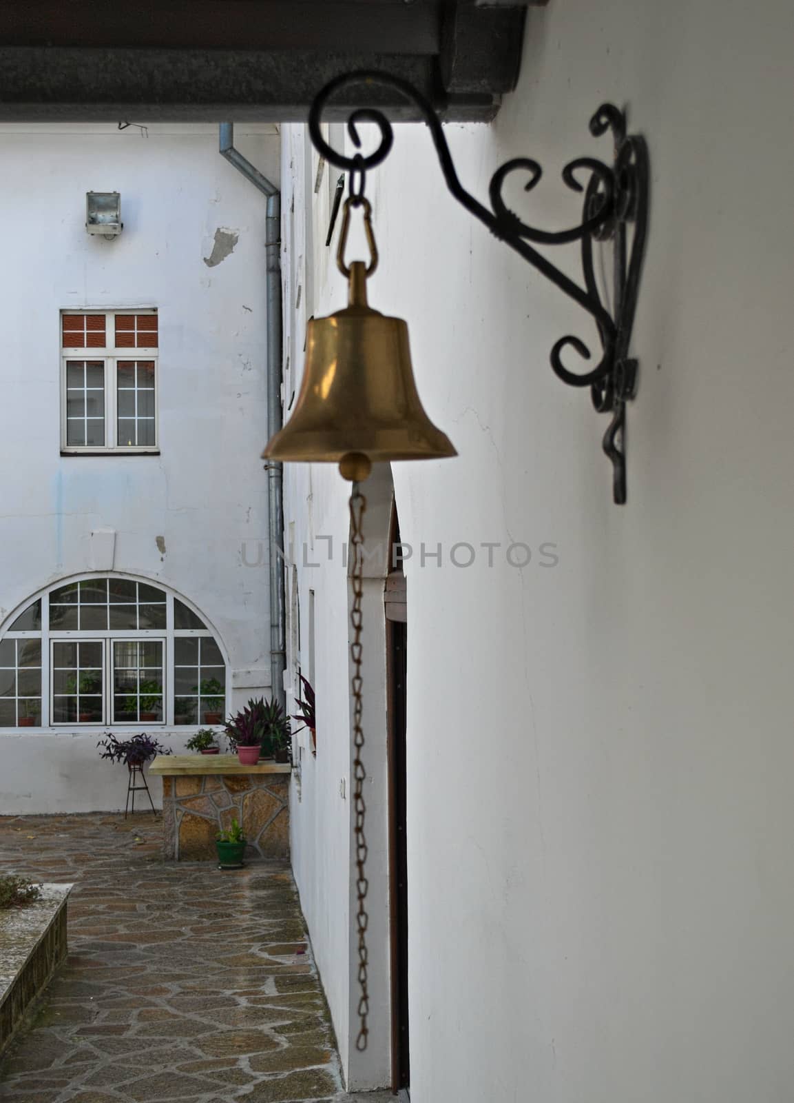
<instances>
[{"instance_id":1,"label":"black wrought-iron scroll bracket holding up the brass bell","mask_svg":"<svg viewBox=\"0 0 794 1103\"><path fill-rule=\"evenodd\" d=\"M584 193L583 221L563 231L544 231L529 226L512 212L502 199L507 178L516 171L529 173L524 191L537 184L541 165L531 158L507 161L493 173L489 185L491 210L483 206L463 186L447 146L440 119L429 101L407 81L377 71L346 73L330 81L315 97L308 116L308 128L315 149L331 164L349 173L350 195L362 200L366 175L389 156L394 132L385 115L372 107L352 110L347 129L356 148L361 146L358 125L373 122L380 130L380 143L373 152L344 157L323 137L320 119L328 100L344 86L351 84L385 85L412 100L422 113L447 188L466 210L486 225L500 240L529 261L561 291L578 303L596 322L601 343L598 364L587 372L574 372L563 363L563 352L570 347L583 360L590 360L590 350L580 338L559 338L551 352L552 368L569 386L589 387L592 404L599 414L611 414L603 435L603 451L612 463L614 502L626 502L626 403L637 393L638 363L629 357L634 324L637 298L648 234L649 158L645 141L639 135L627 133L626 116L611 104L602 104L590 119L590 133L598 138L608 131L614 146L612 164L595 158L580 157L563 169L563 180L575 192ZM587 184L578 174L589 173ZM629 238L631 242L629 244ZM562 272L535 245L568 245L580 242L584 287ZM613 291L611 308L601 300L594 269L594 242L609 242L613 248Z\"/></svg>"}]
</instances>

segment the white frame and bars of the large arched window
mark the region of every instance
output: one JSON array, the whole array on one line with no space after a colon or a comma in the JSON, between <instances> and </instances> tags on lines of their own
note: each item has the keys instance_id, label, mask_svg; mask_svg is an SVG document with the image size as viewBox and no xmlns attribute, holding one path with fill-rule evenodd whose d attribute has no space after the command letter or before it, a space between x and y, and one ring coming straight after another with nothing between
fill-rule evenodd
<instances>
[{"instance_id":1,"label":"white frame and bars of the large arched window","mask_svg":"<svg viewBox=\"0 0 794 1103\"><path fill-rule=\"evenodd\" d=\"M51 629L50 628L50 596L59 590L64 586L68 586L73 582L83 581L99 581L102 579L126 579L132 582L142 582L145 586L154 587L161 590L165 595L165 628L160 629ZM174 620L174 601L178 600L185 606L191 612L198 617L206 625L203 629L192 628L192 629L177 629L175 628ZM36 601L41 601L41 629L32 630L18 630L11 631L7 625L15 623L17 619L22 615ZM229 672L229 656L224 644L224 641L217 630L209 623L207 617L202 610L196 608L196 606L185 598L182 593L177 593L164 585L160 579L146 578L140 575L129 575L120 571L86 571L79 575L70 575L66 578L61 578L55 582L51 582L48 586L39 590L36 593L26 598L4 619L3 627L0 628L0 641L3 640L41 640L42 644L42 667L41 667L41 724L33 728L22 728L19 726L11 725L0 725L0 731L17 731L17 732L36 732L36 731L50 731L50 732L72 732L75 730L118 730L118 731L133 731L135 729L141 729L142 726L146 728L152 727L157 730L167 730L168 728L178 727L180 731L187 733L189 731L195 731L199 727L208 726L206 721L202 721L200 713L196 719L196 722L191 725L177 725L174 715L174 704L176 697L180 696L175 692L175 676L174 676L174 641L177 639L185 638L204 638L214 640L217 644L225 671L225 695L224 695L224 711L221 715L221 721L229 715L230 711L230 699L231 699L231 678ZM157 640L163 641L164 644L164 663L163 663L163 718L160 720L132 720L132 721L117 721L112 718L112 645L105 643L105 663L104 663L104 702L105 702L105 718L102 720L96 721L65 721L65 722L54 722L52 718L52 644L57 640L75 640L83 642L90 641L112 641L112 640ZM182 696L188 697L193 696L188 693L183 693ZM210 725L220 726L220 725Z\"/></svg>"}]
</instances>

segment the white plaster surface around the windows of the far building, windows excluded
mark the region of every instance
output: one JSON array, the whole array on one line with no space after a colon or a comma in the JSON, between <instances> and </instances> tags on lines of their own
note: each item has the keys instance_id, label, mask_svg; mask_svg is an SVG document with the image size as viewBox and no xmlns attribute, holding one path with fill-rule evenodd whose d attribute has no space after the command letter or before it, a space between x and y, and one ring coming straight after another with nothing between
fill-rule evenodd
<instances>
[{"instance_id":1,"label":"white plaster surface around the windows of the far building, windows excluded","mask_svg":"<svg viewBox=\"0 0 794 1103\"><path fill-rule=\"evenodd\" d=\"M235 140L273 180L279 138ZM215 126L0 126L3 410L0 619L91 570L90 533L117 532L113 568L183 595L229 654L235 704L270 684L264 196L218 153ZM117 240L89 237L85 193L121 192ZM239 237L209 267L218 228ZM157 307L161 454L59 456L63 308ZM164 542L161 553L157 538ZM0 812L123 805L97 731L0 729ZM174 749L184 731L166 733ZM155 781L155 791L159 782Z\"/></svg>"}]
</instances>

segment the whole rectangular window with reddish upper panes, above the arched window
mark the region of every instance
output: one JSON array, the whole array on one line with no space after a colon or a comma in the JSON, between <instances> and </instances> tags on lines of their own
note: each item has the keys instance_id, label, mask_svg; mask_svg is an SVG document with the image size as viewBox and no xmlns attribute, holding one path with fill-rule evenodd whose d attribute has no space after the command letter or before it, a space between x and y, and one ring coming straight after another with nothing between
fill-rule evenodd
<instances>
[{"instance_id":1,"label":"whole rectangular window with reddish upper panes, above the arched window","mask_svg":"<svg viewBox=\"0 0 794 1103\"><path fill-rule=\"evenodd\" d=\"M61 333L62 451L156 452L156 310L64 311Z\"/></svg>"}]
</instances>

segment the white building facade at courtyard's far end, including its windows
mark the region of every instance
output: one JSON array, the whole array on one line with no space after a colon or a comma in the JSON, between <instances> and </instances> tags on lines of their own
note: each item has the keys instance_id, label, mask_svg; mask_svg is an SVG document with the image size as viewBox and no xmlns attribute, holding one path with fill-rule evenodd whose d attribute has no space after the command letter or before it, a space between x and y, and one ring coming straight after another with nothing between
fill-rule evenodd
<instances>
[{"instance_id":1,"label":"white building facade at courtyard's far end, including its windows","mask_svg":"<svg viewBox=\"0 0 794 1103\"><path fill-rule=\"evenodd\" d=\"M275 127L236 140L278 180ZM211 125L0 147L0 812L112 810L102 732L178 751L270 690L264 197ZM120 193L118 236L88 192Z\"/></svg>"}]
</instances>

